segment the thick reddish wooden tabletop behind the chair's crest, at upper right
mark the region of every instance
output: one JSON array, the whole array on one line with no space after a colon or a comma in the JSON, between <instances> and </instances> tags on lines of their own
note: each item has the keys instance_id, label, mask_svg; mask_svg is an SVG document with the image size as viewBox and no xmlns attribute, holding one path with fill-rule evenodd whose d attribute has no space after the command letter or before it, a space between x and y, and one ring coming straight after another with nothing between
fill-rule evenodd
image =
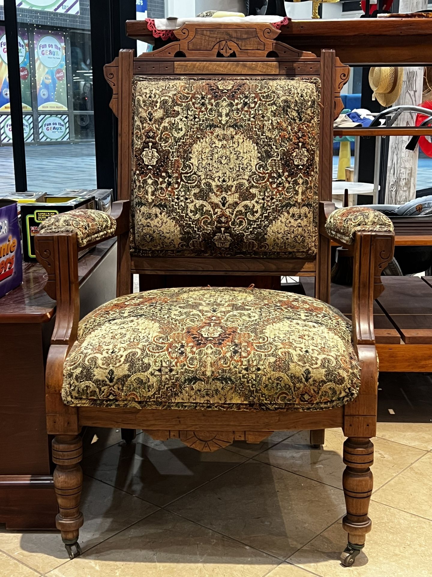
<instances>
[{"instance_id":1,"label":"thick reddish wooden tabletop behind the chair's crest, at upper right","mask_svg":"<svg viewBox=\"0 0 432 577\"><path fill-rule=\"evenodd\" d=\"M128 20L131 38L154 43L144 20ZM432 18L355 18L353 20L291 20L278 40L319 54L334 48L348 65L432 64Z\"/></svg>"}]
</instances>

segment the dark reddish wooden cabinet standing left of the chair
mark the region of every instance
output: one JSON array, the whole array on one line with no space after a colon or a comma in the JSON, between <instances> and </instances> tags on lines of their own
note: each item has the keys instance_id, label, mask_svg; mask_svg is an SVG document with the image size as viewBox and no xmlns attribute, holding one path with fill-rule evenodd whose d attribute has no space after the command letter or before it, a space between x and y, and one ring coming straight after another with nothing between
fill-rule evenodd
<instances>
[{"instance_id":1,"label":"dark reddish wooden cabinet standing left of the chair","mask_svg":"<svg viewBox=\"0 0 432 577\"><path fill-rule=\"evenodd\" d=\"M116 295L116 245L101 243L79 261L81 317ZM24 263L24 283L0 299L0 523L55 529L57 503L46 429L44 370L55 301L46 273Z\"/></svg>"}]
</instances>

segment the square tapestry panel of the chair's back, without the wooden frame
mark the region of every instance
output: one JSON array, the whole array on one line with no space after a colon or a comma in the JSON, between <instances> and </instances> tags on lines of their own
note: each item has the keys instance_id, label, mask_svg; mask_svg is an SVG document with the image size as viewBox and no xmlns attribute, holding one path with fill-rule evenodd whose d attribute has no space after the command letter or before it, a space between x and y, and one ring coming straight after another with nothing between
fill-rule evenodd
<instances>
[{"instance_id":1,"label":"square tapestry panel of the chair's back, without the wooden frame","mask_svg":"<svg viewBox=\"0 0 432 577\"><path fill-rule=\"evenodd\" d=\"M131 252L317 249L320 81L134 76Z\"/></svg>"}]
</instances>

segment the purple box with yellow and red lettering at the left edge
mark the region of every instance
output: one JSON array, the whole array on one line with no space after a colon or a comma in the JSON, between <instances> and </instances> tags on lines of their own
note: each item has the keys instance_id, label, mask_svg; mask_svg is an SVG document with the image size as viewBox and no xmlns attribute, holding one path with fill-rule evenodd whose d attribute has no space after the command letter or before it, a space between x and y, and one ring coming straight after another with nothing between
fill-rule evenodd
<instances>
[{"instance_id":1,"label":"purple box with yellow and red lettering at the left edge","mask_svg":"<svg viewBox=\"0 0 432 577\"><path fill-rule=\"evenodd\" d=\"M22 283L17 203L0 200L0 298Z\"/></svg>"}]
</instances>

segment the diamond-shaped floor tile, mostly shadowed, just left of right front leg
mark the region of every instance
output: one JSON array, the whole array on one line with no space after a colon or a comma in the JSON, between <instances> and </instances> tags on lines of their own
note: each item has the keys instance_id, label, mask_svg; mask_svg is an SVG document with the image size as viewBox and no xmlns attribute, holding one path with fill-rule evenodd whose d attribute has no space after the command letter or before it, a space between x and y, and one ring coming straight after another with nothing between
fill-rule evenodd
<instances>
[{"instance_id":1,"label":"diamond-shaped floor tile, mostly shadowed, just left of right front leg","mask_svg":"<svg viewBox=\"0 0 432 577\"><path fill-rule=\"evenodd\" d=\"M285 559L345 511L343 493L249 460L168 506Z\"/></svg>"}]
</instances>

